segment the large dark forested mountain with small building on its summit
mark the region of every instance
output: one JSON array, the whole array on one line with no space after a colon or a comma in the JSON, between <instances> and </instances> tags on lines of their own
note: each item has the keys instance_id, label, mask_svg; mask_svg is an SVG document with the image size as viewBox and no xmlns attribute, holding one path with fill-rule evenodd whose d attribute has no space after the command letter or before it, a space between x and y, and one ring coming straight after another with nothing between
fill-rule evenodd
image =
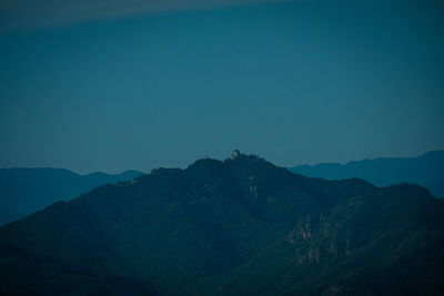
<instances>
[{"instance_id":1,"label":"large dark forested mountain with small building on its summit","mask_svg":"<svg viewBox=\"0 0 444 296\"><path fill-rule=\"evenodd\" d=\"M311 178L240 153L102 185L0 227L0 242L7 295L83 282L88 290L71 295L444 292L443 200L406 183Z\"/></svg>"}]
</instances>

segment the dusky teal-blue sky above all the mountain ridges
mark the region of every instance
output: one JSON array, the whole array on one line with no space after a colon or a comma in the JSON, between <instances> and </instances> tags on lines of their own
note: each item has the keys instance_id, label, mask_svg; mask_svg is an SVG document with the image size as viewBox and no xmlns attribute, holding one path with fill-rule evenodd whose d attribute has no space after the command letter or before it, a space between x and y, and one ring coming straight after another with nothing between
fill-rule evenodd
<instances>
[{"instance_id":1,"label":"dusky teal-blue sky above all the mountain ridges","mask_svg":"<svg viewBox=\"0 0 444 296\"><path fill-rule=\"evenodd\" d=\"M0 167L444 149L438 0L0 0Z\"/></svg>"}]
</instances>

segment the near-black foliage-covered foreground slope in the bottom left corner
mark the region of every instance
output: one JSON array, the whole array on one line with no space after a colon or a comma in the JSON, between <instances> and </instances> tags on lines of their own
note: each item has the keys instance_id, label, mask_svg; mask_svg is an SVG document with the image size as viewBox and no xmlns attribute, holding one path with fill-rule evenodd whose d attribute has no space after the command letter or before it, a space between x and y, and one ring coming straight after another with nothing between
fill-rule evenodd
<instances>
[{"instance_id":1,"label":"near-black foliage-covered foreground slope in the bottom left corner","mask_svg":"<svg viewBox=\"0 0 444 296\"><path fill-rule=\"evenodd\" d=\"M111 274L42 257L0 242L0 295L154 295L147 286Z\"/></svg>"}]
</instances>

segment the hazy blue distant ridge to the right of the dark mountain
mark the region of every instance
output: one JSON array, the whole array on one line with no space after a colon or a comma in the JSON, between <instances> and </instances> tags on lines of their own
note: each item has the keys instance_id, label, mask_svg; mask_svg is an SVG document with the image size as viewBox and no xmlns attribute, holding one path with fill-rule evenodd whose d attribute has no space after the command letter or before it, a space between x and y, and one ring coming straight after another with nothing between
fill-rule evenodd
<instances>
[{"instance_id":1,"label":"hazy blue distant ridge to the right of the dark mountain","mask_svg":"<svg viewBox=\"0 0 444 296\"><path fill-rule=\"evenodd\" d=\"M360 177L376 186L403 182L420 184L437 197L444 197L444 151L431 151L417 157L381 157L340 163L297 165L289 169L293 173L341 180Z\"/></svg>"}]
</instances>

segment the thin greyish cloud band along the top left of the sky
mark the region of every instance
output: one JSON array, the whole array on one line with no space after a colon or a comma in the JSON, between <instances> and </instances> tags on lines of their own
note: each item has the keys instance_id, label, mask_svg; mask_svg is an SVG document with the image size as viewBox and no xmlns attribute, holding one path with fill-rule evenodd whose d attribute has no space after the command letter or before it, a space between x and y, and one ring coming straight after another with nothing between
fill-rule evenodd
<instances>
[{"instance_id":1,"label":"thin greyish cloud band along the top left of the sky","mask_svg":"<svg viewBox=\"0 0 444 296\"><path fill-rule=\"evenodd\" d=\"M0 0L0 31L34 29L162 11L213 9L282 1L285 0Z\"/></svg>"}]
</instances>

